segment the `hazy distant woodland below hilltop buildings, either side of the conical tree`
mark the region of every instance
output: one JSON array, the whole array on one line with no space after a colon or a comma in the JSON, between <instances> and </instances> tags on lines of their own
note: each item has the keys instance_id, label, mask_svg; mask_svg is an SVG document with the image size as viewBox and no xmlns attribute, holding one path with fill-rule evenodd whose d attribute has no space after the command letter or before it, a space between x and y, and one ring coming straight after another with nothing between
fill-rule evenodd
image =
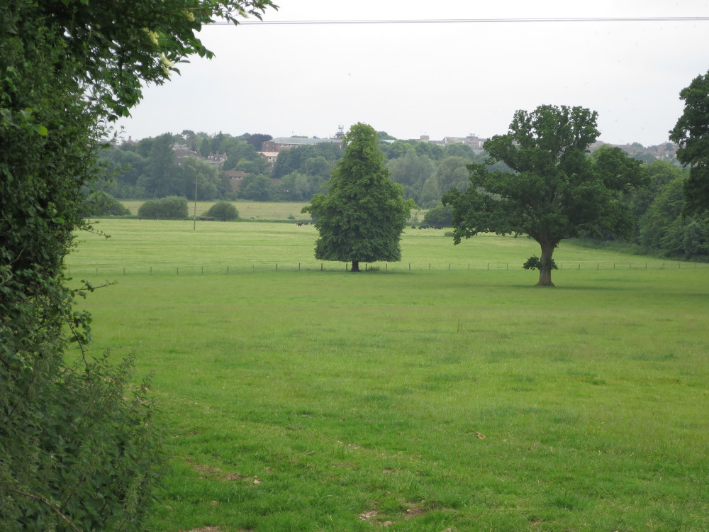
<instances>
[{"instance_id":1,"label":"hazy distant woodland below hilltop buildings, either side of the conical tree","mask_svg":"<svg viewBox=\"0 0 709 532\"><path fill-rule=\"evenodd\" d=\"M118 199L155 199L185 196L194 199L198 182L199 199L251 199L254 201L309 201L323 192L335 163L343 154L333 143L318 143L284 150L273 169L258 151L270 135L245 133L235 137L225 133L208 135L182 131L123 143L101 154L111 170L102 188ZM465 189L469 172L466 165L481 162L484 154L468 145L447 147L431 143L395 140L378 132L378 145L386 157L391 178L404 188L407 199L430 208L452 187ZM199 155L186 157L178 165L173 146L186 145ZM241 170L238 192L230 178L207 162L211 153L223 153L227 160L220 170Z\"/></svg>"}]
</instances>

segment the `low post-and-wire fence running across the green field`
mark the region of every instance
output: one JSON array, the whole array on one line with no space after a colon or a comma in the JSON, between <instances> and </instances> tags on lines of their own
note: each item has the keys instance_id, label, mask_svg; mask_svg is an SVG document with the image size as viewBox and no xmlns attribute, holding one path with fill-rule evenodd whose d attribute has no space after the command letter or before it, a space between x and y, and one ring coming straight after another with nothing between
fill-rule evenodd
<instances>
[{"instance_id":1,"label":"low post-and-wire fence running across the green field","mask_svg":"<svg viewBox=\"0 0 709 532\"><path fill-rule=\"evenodd\" d=\"M258 266L258 268L256 268ZM592 262L592 261L576 261L576 262L559 262L557 264L559 271L613 271L613 270L696 270L709 269L709 264L706 262L681 262L681 261L637 261L637 262ZM510 268L510 262L374 262L359 265L362 271L384 271L384 272L432 272L432 271L520 271L521 265L514 262ZM224 265L212 266L207 265L206 272L204 265L145 265L144 267L121 267L121 266L72 266L67 267L67 274L72 275L87 275L93 274L96 277L106 275L235 275L244 273L256 272L308 272L308 271L328 271L340 272L349 271L349 262L319 262L308 263L303 265L301 262L288 264L286 262L273 262L267 264L259 262L259 264L251 263L247 265Z\"/></svg>"}]
</instances>

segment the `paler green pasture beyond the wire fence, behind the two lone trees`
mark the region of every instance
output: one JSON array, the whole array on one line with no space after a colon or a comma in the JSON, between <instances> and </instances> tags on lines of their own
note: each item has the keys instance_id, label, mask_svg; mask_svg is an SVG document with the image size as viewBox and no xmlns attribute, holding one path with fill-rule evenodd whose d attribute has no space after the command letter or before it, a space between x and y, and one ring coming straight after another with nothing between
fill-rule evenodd
<instances>
[{"instance_id":1,"label":"paler green pasture beyond the wire fence, behind the two lone trees","mask_svg":"<svg viewBox=\"0 0 709 532\"><path fill-rule=\"evenodd\" d=\"M77 253L67 265L74 275L89 272L106 275L195 273L216 274L244 271L344 270L340 262L320 262L313 256L318 232L312 225L294 223L201 222L193 230L192 221L110 219L95 228L111 238L84 234ZM445 231L406 228L401 240L402 260L375 264L381 270L520 270L539 246L527 238L478 235L453 245ZM650 270L693 268L687 262L624 255L562 243L554 253L557 264L566 270ZM371 265L370 265L371 266ZM698 267L708 267L703 264ZM535 272L525 272L530 282ZM554 277L559 272L554 273Z\"/></svg>"}]
</instances>

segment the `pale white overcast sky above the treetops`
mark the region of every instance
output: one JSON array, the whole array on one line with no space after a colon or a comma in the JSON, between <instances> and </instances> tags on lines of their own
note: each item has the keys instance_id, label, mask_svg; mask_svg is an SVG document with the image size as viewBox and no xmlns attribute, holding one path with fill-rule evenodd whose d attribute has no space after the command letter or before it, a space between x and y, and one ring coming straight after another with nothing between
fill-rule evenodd
<instances>
[{"instance_id":1,"label":"pale white overcast sky above the treetops","mask_svg":"<svg viewBox=\"0 0 709 532\"><path fill-rule=\"evenodd\" d=\"M264 21L707 17L709 0L276 0ZM254 19L256 20L256 19ZM211 26L118 124L180 133L329 137L357 122L396 138L506 133L517 109L584 106L601 140L666 142L679 91L709 70L709 21Z\"/></svg>"}]
</instances>

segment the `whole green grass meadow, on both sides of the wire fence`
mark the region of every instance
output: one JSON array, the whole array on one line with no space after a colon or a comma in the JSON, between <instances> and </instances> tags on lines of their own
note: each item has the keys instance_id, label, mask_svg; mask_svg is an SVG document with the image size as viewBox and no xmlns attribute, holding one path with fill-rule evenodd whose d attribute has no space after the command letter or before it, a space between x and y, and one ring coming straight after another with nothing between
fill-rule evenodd
<instances>
[{"instance_id":1,"label":"whole green grass meadow, on both sides of the wire fence","mask_svg":"<svg viewBox=\"0 0 709 532\"><path fill-rule=\"evenodd\" d=\"M155 371L153 530L709 529L707 265L562 244L540 289L523 238L407 228L353 275L313 226L96 228L67 265L117 282L93 352Z\"/></svg>"}]
</instances>

